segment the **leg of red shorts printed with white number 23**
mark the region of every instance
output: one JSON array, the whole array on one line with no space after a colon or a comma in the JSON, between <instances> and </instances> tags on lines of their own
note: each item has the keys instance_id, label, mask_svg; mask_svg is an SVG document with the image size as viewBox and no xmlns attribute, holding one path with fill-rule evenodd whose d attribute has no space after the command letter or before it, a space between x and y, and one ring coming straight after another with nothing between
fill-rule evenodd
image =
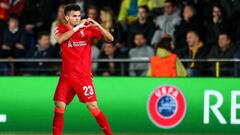
<instances>
[{"instance_id":1,"label":"leg of red shorts printed with white number 23","mask_svg":"<svg viewBox=\"0 0 240 135\"><path fill-rule=\"evenodd\" d=\"M91 78L84 78L74 81L74 90L81 102L96 101L96 92Z\"/></svg>"}]
</instances>

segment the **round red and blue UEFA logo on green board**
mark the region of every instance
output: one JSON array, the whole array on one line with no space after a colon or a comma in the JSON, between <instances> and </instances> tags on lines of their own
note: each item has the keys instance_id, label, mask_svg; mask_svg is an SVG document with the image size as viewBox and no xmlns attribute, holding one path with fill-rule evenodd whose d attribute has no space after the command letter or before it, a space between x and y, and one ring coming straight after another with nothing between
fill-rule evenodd
<instances>
[{"instance_id":1,"label":"round red and blue UEFA logo on green board","mask_svg":"<svg viewBox=\"0 0 240 135\"><path fill-rule=\"evenodd\" d=\"M151 121L160 128L173 128L184 118L186 101L174 86L164 85L150 95L147 111Z\"/></svg>"}]
</instances>

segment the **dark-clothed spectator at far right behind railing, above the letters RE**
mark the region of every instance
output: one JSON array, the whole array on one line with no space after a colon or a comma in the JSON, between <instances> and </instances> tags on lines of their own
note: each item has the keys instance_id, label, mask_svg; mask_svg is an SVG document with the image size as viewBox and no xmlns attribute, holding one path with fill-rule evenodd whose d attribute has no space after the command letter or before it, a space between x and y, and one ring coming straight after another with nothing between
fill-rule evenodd
<instances>
[{"instance_id":1,"label":"dark-clothed spectator at far right behind railing, above the letters RE","mask_svg":"<svg viewBox=\"0 0 240 135\"><path fill-rule=\"evenodd\" d=\"M218 45L213 46L209 53L209 58L215 59L228 59L233 58L235 51L237 50L236 46L233 45L229 35L225 32L222 32L218 36ZM220 62L220 76L233 76L233 63L232 62ZM210 67L212 73L215 73L215 63Z\"/></svg>"}]
</instances>

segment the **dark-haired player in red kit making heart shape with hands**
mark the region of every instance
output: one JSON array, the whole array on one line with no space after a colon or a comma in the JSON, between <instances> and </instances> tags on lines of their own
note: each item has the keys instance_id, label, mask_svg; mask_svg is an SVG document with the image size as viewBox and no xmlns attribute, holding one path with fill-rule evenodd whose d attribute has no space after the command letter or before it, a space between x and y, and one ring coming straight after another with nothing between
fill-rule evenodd
<instances>
[{"instance_id":1,"label":"dark-haired player in red kit making heart shape with hands","mask_svg":"<svg viewBox=\"0 0 240 135\"><path fill-rule=\"evenodd\" d=\"M54 95L55 109L53 135L61 135L64 127L64 111L75 94L86 104L106 135L112 135L107 118L97 105L92 82L91 42L92 38L103 37L107 42L113 36L91 18L82 19L80 7L76 4L64 8L66 25L59 25L55 38L62 48L62 70Z\"/></svg>"}]
</instances>

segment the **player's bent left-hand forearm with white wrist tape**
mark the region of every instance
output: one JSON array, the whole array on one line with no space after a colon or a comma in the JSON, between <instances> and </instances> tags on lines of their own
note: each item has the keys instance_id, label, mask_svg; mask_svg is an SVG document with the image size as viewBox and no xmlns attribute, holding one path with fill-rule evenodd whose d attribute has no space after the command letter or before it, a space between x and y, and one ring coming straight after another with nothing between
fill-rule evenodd
<instances>
[{"instance_id":1,"label":"player's bent left-hand forearm with white wrist tape","mask_svg":"<svg viewBox=\"0 0 240 135\"><path fill-rule=\"evenodd\" d=\"M78 29L84 27L85 23L87 20L82 20L82 22L75 26L73 29L68 30L67 32L61 33L58 32L58 30L55 32L55 39L57 40L57 42L59 44L61 44L62 42L68 40Z\"/></svg>"}]
</instances>

